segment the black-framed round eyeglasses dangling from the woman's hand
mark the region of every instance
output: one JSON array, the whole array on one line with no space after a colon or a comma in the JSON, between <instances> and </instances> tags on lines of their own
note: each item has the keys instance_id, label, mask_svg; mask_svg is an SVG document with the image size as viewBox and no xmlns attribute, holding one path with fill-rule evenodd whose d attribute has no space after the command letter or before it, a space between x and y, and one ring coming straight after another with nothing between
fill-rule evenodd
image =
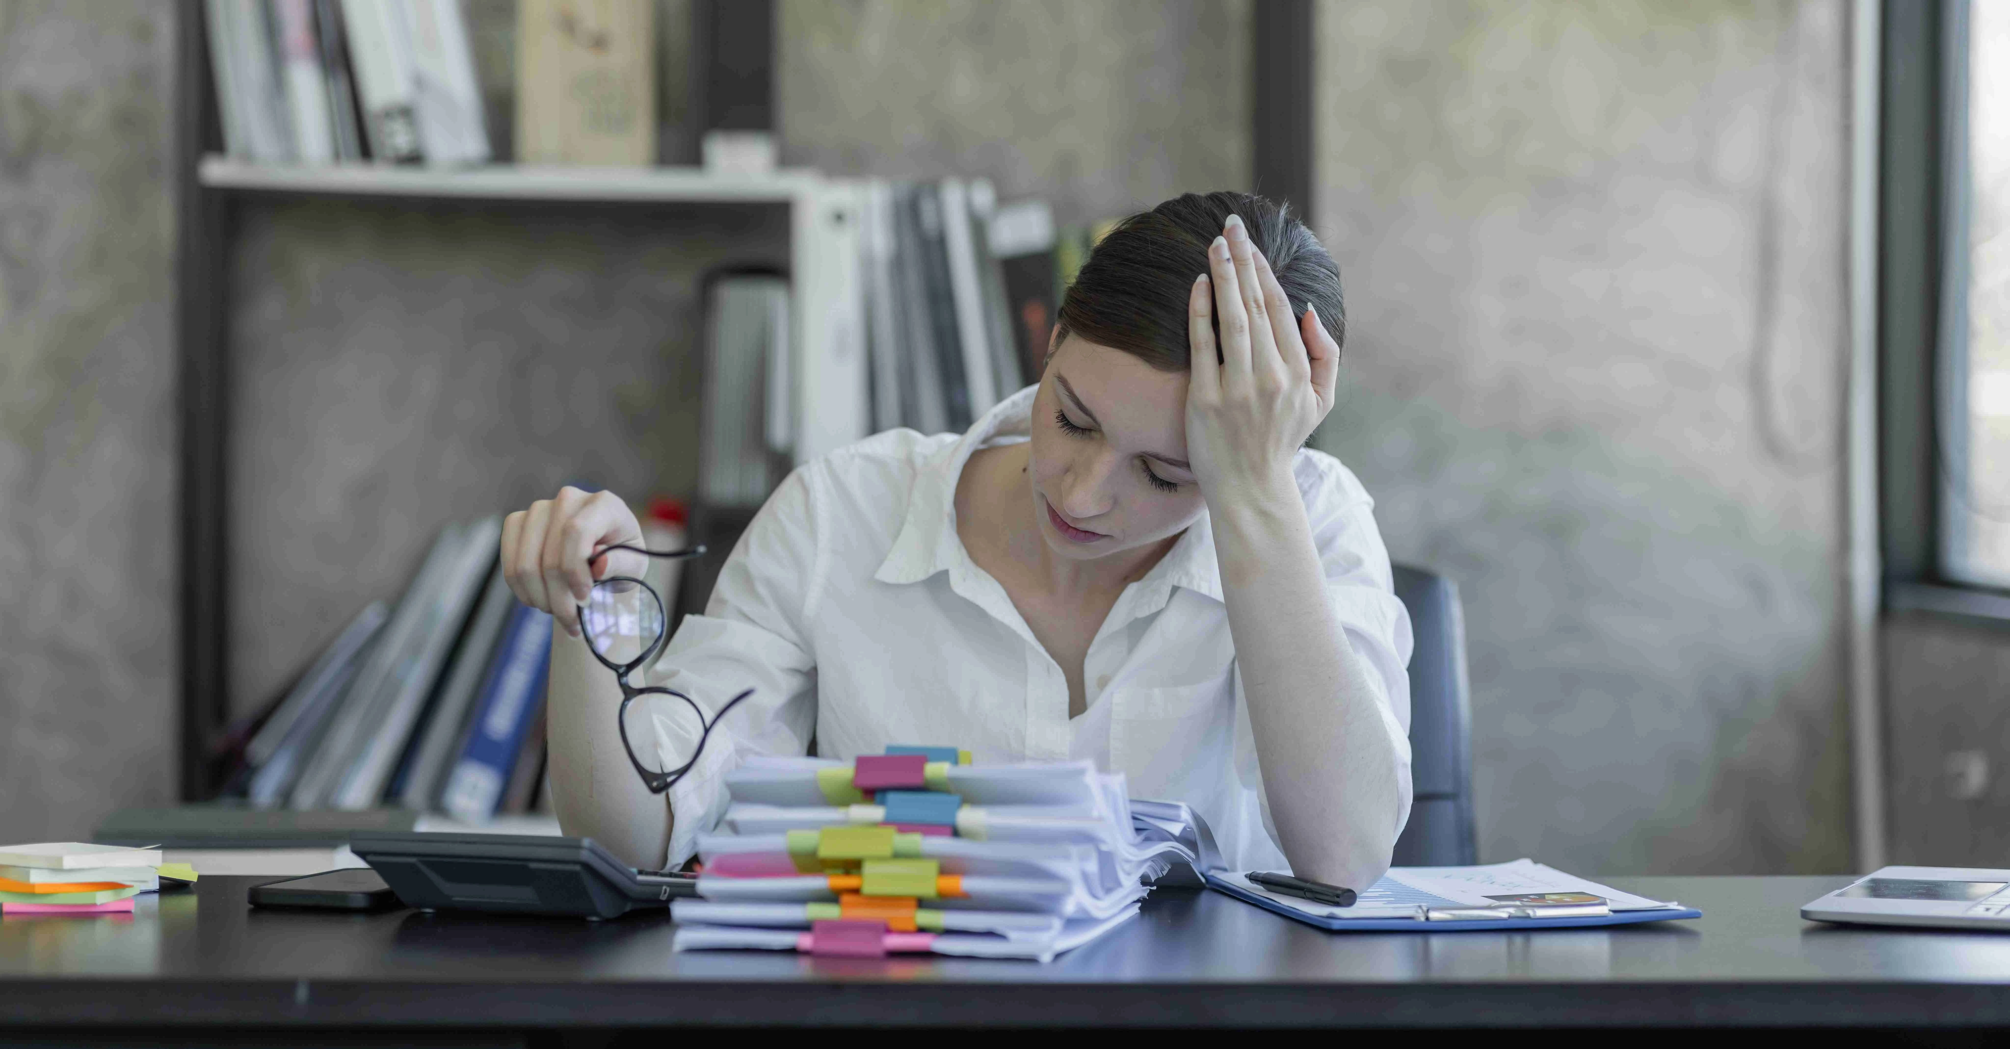
<instances>
[{"instance_id":1,"label":"black-framed round eyeglasses dangling from the woman's hand","mask_svg":"<svg viewBox=\"0 0 2010 1049\"><path fill-rule=\"evenodd\" d=\"M599 559L613 551L669 559L706 553L703 547L645 551L617 543L601 547L593 557ZM579 605L579 629L593 657L615 671L615 681L621 683L621 746L627 750L629 764L635 766L635 772L649 786L651 794L663 794L677 786L677 780L683 780L691 772L691 766L697 764L697 756L706 752L706 740L712 738L712 729L718 727L720 717L726 717L726 711L734 709L736 703L754 695L754 689L746 689L734 695L718 713L706 717L706 709L681 691L631 685L627 679L629 673L647 663L669 635L663 599L653 587L631 575L611 575L593 585L587 593L587 603ZM695 742L691 758L683 764L675 764L667 754L679 740Z\"/></svg>"}]
</instances>

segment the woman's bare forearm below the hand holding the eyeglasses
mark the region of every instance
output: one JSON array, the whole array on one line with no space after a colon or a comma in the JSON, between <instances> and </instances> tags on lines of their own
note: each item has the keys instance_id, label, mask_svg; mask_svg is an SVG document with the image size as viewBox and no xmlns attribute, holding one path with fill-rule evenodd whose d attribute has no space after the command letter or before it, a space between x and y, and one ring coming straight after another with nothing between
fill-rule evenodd
<instances>
[{"instance_id":1,"label":"woman's bare forearm below the hand holding the eyeglasses","mask_svg":"<svg viewBox=\"0 0 2010 1049\"><path fill-rule=\"evenodd\" d=\"M663 866L669 848L667 796L649 794L627 760L619 727L621 685L587 643L553 627L545 729L551 746L551 800L559 828L593 838L641 870Z\"/></svg>"}]
</instances>

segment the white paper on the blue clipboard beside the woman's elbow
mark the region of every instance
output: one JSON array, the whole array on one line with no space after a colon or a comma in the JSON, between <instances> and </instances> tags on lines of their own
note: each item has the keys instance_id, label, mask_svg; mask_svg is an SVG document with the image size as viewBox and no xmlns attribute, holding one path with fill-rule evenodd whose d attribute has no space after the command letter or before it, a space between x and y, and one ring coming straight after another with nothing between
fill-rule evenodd
<instances>
[{"instance_id":1,"label":"white paper on the blue clipboard beside the woman's elbow","mask_svg":"<svg viewBox=\"0 0 2010 1049\"><path fill-rule=\"evenodd\" d=\"M1361 892L1355 906L1325 906L1298 896L1266 892L1238 870L1216 872L1216 878L1319 918L1421 918L1425 908L1493 906L1497 900L1489 896L1528 892L1590 892L1610 900L1612 910L1654 910L1668 906L1660 900L1648 900L1646 896L1634 896L1632 892L1620 892L1618 888L1566 874L1536 860L1485 866L1397 866Z\"/></svg>"}]
</instances>

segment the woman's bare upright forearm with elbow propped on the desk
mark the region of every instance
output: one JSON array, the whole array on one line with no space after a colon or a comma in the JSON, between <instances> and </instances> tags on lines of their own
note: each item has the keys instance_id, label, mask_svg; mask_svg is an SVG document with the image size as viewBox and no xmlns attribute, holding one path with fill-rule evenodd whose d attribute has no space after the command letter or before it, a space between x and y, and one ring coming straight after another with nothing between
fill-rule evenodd
<instances>
[{"instance_id":1,"label":"woman's bare upright forearm with elbow propped on the desk","mask_svg":"<svg viewBox=\"0 0 2010 1049\"><path fill-rule=\"evenodd\" d=\"M1298 876L1365 888L1395 848L1401 758L1333 613L1296 484L1252 488L1210 520L1270 818Z\"/></svg>"}]
</instances>

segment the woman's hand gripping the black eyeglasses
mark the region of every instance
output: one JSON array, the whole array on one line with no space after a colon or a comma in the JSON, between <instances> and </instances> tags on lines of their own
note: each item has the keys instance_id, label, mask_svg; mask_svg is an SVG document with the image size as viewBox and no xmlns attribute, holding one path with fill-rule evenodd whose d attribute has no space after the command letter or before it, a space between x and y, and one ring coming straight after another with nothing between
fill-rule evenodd
<instances>
[{"instance_id":1,"label":"woman's hand gripping the black eyeglasses","mask_svg":"<svg viewBox=\"0 0 2010 1049\"><path fill-rule=\"evenodd\" d=\"M611 573L609 555L593 557L615 543L641 547L635 510L613 492L565 486L502 518L502 579L517 601L551 613L565 633L579 637L579 605L587 601L593 581L635 575L627 565ZM615 557L643 561L641 555Z\"/></svg>"}]
</instances>

